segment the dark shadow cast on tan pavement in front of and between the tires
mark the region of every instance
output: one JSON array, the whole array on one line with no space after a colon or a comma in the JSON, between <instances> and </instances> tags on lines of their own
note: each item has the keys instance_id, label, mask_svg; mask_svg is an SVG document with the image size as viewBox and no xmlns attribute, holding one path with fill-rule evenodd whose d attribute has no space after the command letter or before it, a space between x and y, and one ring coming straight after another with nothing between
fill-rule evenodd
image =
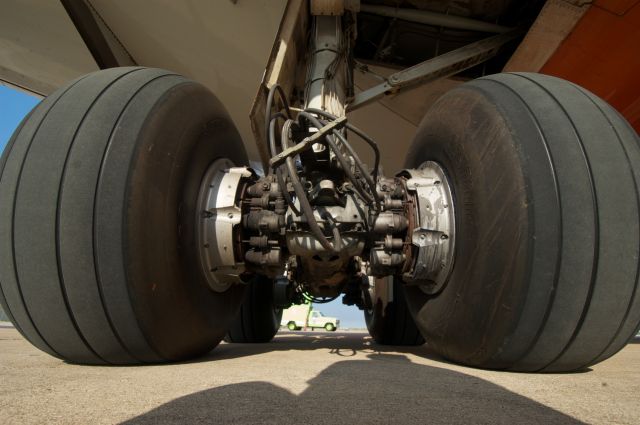
<instances>
[{"instance_id":1,"label":"dark shadow cast on tan pavement in front of and between the tires","mask_svg":"<svg viewBox=\"0 0 640 425\"><path fill-rule=\"evenodd\" d=\"M379 349L387 347L370 346L358 334L283 335L270 344L223 345L209 359L317 348L344 357L365 352L367 359L330 365L299 395L262 381L225 385L178 398L126 423L581 423L486 380L385 353ZM427 352L410 350L420 349Z\"/></svg>"}]
</instances>

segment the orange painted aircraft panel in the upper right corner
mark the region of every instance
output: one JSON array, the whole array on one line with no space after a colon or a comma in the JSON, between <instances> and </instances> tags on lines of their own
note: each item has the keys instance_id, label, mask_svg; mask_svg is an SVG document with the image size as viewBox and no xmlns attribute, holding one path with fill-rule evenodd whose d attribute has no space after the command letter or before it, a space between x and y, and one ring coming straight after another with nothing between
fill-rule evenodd
<instances>
[{"instance_id":1,"label":"orange painted aircraft panel in the upper right corner","mask_svg":"<svg viewBox=\"0 0 640 425\"><path fill-rule=\"evenodd\" d=\"M623 9L622 3L630 6L626 13L610 11ZM589 89L640 132L640 2L631 3L594 4L540 72Z\"/></svg>"}]
</instances>

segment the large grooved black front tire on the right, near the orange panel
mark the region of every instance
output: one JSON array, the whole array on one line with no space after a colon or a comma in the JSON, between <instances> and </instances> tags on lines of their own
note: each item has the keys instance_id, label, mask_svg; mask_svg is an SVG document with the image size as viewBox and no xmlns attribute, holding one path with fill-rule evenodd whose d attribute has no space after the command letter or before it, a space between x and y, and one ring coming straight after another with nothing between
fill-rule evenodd
<instances>
[{"instance_id":1,"label":"large grooved black front tire on the right, near the orange panel","mask_svg":"<svg viewBox=\"0 0 640 425\"><path fill-rule=\"evenodd\" d=\"M435 297L407 287L443 356L516 371L573 371L619 351L640 324L640 148L588 91L498 74L440 98L407 167L453 186L455 265Z\"/></svg>"}]
</instances>

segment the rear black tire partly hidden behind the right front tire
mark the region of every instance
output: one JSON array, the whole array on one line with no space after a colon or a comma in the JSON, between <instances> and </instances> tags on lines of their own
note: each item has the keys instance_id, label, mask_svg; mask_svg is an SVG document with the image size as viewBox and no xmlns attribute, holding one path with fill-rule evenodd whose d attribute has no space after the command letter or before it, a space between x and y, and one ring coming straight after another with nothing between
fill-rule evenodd
<instances>
[{"instance_id":1,"label":"rear black tire partly hidden behind the right front tire","mask_svg":"<svg viewBox=\"0 0 640 425\"><path fill-rule=\"evenodd\" d=\"M392 276L377 279L371 301L373 308L364 311L364 321L375 342L381 345L424 344L398 279Z\"/></svg>"}]
</instances>

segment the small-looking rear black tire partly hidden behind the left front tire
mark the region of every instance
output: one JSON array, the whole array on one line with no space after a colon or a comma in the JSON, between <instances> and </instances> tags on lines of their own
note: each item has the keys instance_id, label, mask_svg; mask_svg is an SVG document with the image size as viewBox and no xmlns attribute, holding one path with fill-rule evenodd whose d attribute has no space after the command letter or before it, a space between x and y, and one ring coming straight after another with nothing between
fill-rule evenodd
<instances>
[{"instance_id":1,"label":"small-looking rear black tire partly hidden behind the left front tire","mask_svg":"<svg viewBox=\"0 0 640 425\"><path fill-rule=\"evenodd\" d=\"M240 313L233 321L225 341L237 343L269 342L278 333L282 309L273 304L273 282L258 276L249 284Z\"/></svg>"}]
</instances>

